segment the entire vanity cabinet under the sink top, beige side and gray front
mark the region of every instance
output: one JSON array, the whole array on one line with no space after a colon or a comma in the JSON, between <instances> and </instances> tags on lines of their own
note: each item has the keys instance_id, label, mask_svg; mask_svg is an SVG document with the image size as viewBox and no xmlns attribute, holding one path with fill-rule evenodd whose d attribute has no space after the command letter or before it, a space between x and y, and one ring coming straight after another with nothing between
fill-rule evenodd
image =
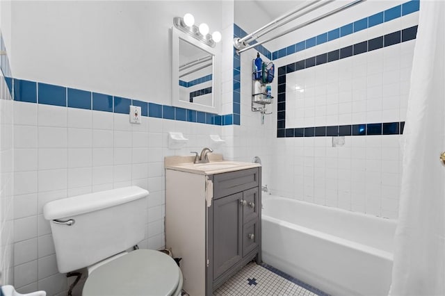
<instances>
[{"instance_id":1,"label":"entire vanity cabinet under the sink top, beige side and gray front","mask_svg":"<svg viewBox=\"0 0 445 296\"><path fill-rule=\"evenodd\" d=\"M191 296L213 295L244 265L261 262L261 167L199 174L172 166L165 182L165 246L182 258Z\"/></svg>"}]
</instances>

